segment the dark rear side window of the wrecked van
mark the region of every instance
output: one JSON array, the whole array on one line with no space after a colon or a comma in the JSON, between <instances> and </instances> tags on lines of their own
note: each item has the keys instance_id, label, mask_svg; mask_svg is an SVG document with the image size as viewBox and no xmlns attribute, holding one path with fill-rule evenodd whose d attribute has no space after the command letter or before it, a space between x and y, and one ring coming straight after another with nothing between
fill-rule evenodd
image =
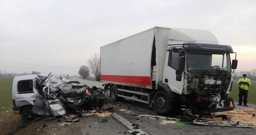
<instances>
[{"instance_id":1,"label":"dark rear side window of the wrecked van","mask_svg":"<svg viewBox=\"0 0 256 135\"><path fill-rule=\"evenodd\" d=\"M19 93L34 93L33 80L22 80L18 82Z\"/></svg>"}]
</instances>

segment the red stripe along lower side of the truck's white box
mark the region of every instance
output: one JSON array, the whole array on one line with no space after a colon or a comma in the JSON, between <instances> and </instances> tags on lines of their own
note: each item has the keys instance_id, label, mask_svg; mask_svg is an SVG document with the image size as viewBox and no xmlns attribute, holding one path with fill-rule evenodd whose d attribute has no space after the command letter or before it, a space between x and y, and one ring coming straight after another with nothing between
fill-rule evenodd
<instances>
[{"instance_id":1,"label":"red stripe along lower side of the truck's white box","mask_svg":"<svg viewBox=\"0 0 256 135\"><path fill-rule=\"evenodd\" d=\"M116 81L128 84L140 84L149 85L151 84L150 77L140 77L140 76L122 76L122 75L100 75L100 79L104 81Z\"/></svg>"}]
</instances>

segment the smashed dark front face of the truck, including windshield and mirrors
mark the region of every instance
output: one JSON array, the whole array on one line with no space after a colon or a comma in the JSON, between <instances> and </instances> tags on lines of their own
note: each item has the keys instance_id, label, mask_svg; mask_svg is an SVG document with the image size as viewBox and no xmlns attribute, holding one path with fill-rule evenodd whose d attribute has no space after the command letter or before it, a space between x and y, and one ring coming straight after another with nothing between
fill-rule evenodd
<instances>
[{"instance_id":1,"label":"smashed dark front face of the truck, including windshield and mirrors","mask_svg":"<svg viewBox=\"0 0 256 135\"><path fill-rule=\"evenodd\" d=\"M216 44L184 43L179 52L176 80L184 77L182 94L185 105L193 114L223 112L234 109L232 98L232 69L230 46ZM179 61L180 59L180 61ZM183 73L184 71L184 73ZM182 74L182 75L179 75Z\"/></svg>"}]
</instances>

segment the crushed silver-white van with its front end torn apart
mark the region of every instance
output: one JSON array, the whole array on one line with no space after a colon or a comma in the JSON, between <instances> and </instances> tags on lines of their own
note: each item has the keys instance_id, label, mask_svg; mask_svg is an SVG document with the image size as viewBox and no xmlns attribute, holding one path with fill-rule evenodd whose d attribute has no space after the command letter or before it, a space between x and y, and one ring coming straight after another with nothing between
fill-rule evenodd
<instances>
[{"instance_id":1,"label":"crushed silver-white van with its front end torn apart","mask_svg":"<svg viewBox=\"0 0 256 135\"><path fill-rule=\"evenodd\" d=\"M68 113L82 115L84 109L100 108L105 94L100 88L77 86L57 74L24 75L14 77L12 102L14 114L21 114L25 122L37 115L59 116Z\"/></svg>"}]
</instances>

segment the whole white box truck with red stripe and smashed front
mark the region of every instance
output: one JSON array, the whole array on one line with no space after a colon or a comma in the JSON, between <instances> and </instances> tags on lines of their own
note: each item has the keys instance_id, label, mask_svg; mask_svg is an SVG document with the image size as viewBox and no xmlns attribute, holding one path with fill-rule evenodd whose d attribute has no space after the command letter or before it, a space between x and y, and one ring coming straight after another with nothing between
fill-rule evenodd
<instances>
[{"instance_id":1,"label":"whole white box truck with red stripe and smashed front","mask_svg":"<svg viewBox=\"0 0 256 135\"><path fill-rule=\"evenodd\" d=\"M193 114L229 111L233 53L209 31L156 26L100 47L101 81L112 101L152 104L161 115L180 107Z\"/></svg>"}]
</instances>

